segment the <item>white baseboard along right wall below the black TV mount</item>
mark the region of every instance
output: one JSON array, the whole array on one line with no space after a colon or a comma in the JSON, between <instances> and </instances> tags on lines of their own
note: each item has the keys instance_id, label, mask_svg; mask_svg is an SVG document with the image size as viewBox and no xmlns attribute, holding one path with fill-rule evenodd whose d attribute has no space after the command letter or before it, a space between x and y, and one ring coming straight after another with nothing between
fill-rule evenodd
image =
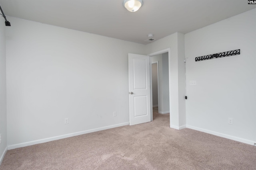
<instances>
[{"instance_id":1,"label":"white baseboard along right wall below the black TV mount","mask_svg":"<svg viewBox=\"0 0 256 170\"><path fill-rule=\"evenodd\" d=\"M248 139L243 139L243 138L240 138L240 137L226 135L224 133L219 133L219 132L210 131L210 130L207 130L207 129L202 129L200 127L194 127L194 126L190 126L190 125L186 125L186 127L189 128L189 129L194 129L196 131L209 133L209 134L212 134L212 135L216 135L216 136L219 136L219 137L224 137L224 138L227 138L227 139L231 139L231 140L234 140L234 141L246 143L246 144L249 144L249 145L254 145L254 143L256 143L255 141L250 141Z\"/></svg>"}]
</instances>

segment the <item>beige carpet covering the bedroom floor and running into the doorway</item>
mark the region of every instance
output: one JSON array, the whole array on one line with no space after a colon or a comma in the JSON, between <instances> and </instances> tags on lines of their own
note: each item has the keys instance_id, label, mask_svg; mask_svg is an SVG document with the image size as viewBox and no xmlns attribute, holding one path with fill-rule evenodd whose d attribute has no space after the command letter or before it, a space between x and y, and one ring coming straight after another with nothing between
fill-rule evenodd
<instances>
[{"instance_id":1,"label":"beige carpet covering the bedroom floor and running into the doorway","mask_svg":"<svg viewBox=\"0 0 256 170\"><path fill-rule=\"evenodd\" d=\"M256 170L256 147L154 121L8 150L0 170Z\"/></svg>"}]
</instances>

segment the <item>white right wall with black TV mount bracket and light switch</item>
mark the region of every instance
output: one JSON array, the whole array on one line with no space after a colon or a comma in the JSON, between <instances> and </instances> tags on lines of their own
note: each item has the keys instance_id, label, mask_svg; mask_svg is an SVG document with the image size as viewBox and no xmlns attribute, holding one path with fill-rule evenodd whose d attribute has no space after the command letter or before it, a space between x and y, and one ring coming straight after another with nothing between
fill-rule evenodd
<instances>
[{"instance_id":1,"label":"white right wall with black TV mount bracket and light switch","mask_svg":"<svg viewBox=\"0 0 256 170\"><path fill-rule=\"evenodd\" d=\"M187 127L253 144L256 141L256 9L185 35ZM237 56L195 57L240 49ZM196 86L189 86L196 80ZM233 125L228 124L233 118Z\"/></svg>"}]
</instances>

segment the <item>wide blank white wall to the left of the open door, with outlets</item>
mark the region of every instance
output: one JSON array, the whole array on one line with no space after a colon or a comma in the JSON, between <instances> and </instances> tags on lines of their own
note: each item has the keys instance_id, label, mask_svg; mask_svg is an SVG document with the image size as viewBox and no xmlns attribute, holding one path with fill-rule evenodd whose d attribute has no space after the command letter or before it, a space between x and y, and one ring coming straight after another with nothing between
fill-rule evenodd
<instances>
[{"instance_id":1,"label":"wide blank white wall to the left of the open door, with outlets","mask_svg":"<svg viewBox=\"0 0 256 170\"><path fill-rule=\"evenodd\" d=\"M128 124L128 53L145 55L145 45L9 20L8 149Z\"/></svg>"}]
</instances>

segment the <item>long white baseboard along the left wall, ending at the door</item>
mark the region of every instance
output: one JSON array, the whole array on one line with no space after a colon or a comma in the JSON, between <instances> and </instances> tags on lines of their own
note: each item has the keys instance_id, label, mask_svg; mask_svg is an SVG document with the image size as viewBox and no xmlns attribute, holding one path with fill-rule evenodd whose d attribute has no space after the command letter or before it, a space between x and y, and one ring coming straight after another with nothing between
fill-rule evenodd
<instances>
[{"instance_id":1,"label":"long white baseboard along the left wall, ending at the door","mask_svg":"<svg viewBox=\"0 0 256 170\"><path fill-rule=\"evenodd\" d=\"M116 124L116 125L110 125L110 126L100 127L100 128L96 128L96 129L89 129L89 130L86 130L86 131L69 133L69 134L66 134L66 135L60 135L60 136L56 136L56 137L49 137L49 138L45 138L45 139L39 139L39 140L36 140L36 141L19 143L19 144L15 144L15 145L9 145L8 150L16 149L16 148L20 148L20 147L27 147L27 146L30 146L30 145L36 145L36 144L50 142L50 141L55 141L55 140L58 140L58 139L64 139L64 138L67 138L67 137L73 137L73 136L77 136L77 135L83 135L83 134L86 134L86 133L102 131L102 130L111 129L111 128L114 128L114 127L125 126L125 125L129 125L129 124L130 124L129 122L119 123L119 124Z\"/></svg>"}]
</instances>

